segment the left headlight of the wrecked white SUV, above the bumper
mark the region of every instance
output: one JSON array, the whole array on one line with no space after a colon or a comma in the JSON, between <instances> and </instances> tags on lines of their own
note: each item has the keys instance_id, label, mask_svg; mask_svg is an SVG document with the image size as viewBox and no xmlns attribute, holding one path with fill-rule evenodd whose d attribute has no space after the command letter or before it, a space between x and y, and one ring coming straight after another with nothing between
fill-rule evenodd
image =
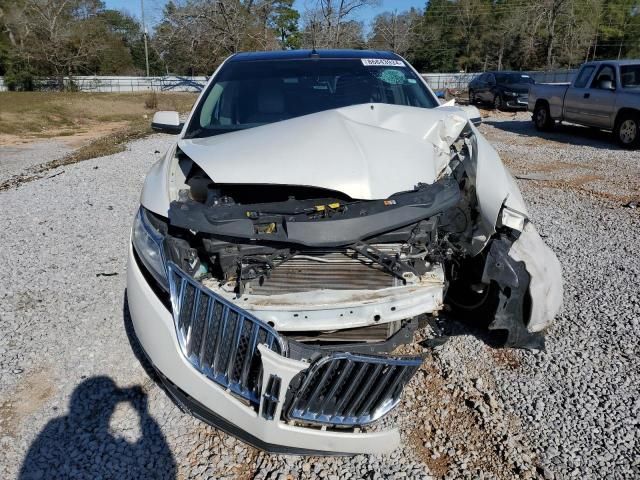
<instances>
[{"instance_id":1,"label":"left headlight of the wrecked white SUV, above the bumper","mask_svg":"<svg viewBox=\"0 0 640 480\"><path fill-rule=\"evenodd\" d=\"M144 266L147 267L147 270L158 283L168 291L169 282L167 281L167 272L162 254L164 236L151 224L147 215L146 210L140 207L133 222L131 241Z\"/></svg>"}]
</instances>

